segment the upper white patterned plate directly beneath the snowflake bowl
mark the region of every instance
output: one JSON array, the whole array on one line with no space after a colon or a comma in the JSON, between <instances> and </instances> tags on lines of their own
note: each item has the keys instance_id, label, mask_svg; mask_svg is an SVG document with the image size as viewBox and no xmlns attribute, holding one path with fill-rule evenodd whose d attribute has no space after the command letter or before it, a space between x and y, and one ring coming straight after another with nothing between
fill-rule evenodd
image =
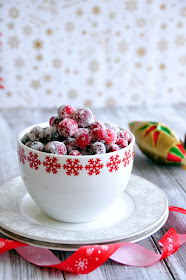
<instances>
[{"instance_id":1,"label":"upper white patterned plate directly beneath the snowflake bowl","mask_svg":"<svg viewBox=\"0 0 186 280\"><path fill-rule=\"evenodd\" d=\"M35 241L80 245L146 236L167 215L168 202L157 186L131 175L122 199L98 220L62 223L41 212L21 177L16 177L0 187L0 213L0 226L11 233Z\"/></svg>"}]
</instances>

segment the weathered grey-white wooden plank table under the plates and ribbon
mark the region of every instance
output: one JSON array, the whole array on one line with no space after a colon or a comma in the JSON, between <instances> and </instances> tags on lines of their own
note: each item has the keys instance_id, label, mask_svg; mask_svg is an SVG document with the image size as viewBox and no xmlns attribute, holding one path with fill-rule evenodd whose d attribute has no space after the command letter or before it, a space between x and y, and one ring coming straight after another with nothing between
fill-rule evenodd
<instances>
[{"instance_id":1,"label":"weathered grey-white wooden plank table under the plates and ribbon","mask_svg":"<svg viewBox=\"0 0 186 280\"><path fill-rule=\"evenodd\" d=\"M56 113L52 109L0 109L0 185L19 175L16 156L16 135L23 128L47 121ZM128 122L135 120L161 121L172 128L180 137L186 132L186 105L140 106L117 109L93 109L97 119L128 127ZM133 174L153 182L165 193L169 205L186 208L186 171L181 167L158 166L145 157L138 147L135 148ZM138 242L141 246L160 253L158 241L171 228L178 233L186 233L186 217L171 212L165 225L151 237ZM5 237L0 234L0 237ZM16 251L0 256L0 279L186 279L186 245L150 267L130 267L108 260L101 267L87 275L73 275L55 269L36 267L22 259ZM55 251L64 260L70 252Z\"/></svg>"}]
</instances>

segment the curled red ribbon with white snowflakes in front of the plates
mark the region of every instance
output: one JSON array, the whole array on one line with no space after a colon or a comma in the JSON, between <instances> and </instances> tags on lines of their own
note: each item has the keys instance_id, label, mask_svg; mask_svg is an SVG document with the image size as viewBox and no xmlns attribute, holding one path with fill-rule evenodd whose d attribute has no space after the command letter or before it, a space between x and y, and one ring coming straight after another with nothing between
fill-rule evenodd
<instances>
[{"instance_id":1,"label":"curled red ribbon with white snowflakes in front of the plates","mask_svg":"<svg viewBox=\"0 0 186 280\"><path fill-rule=\"evenodd\" d=\"M186 210L178 207L169 207L170 211L186 214ZM60 270L87 274L109 258L121 264L130 266L149 266L172 254L180 245L186 242L186 234L178 234L171 228L159 241L163 253L151 252L142 246L124 242L108 245L82 246L68 259L61 262L50 250L30 246L18 241L0 238L0 254L15 249L20 256L37 266L53 267Z\"/></svg>"}]
</instances>

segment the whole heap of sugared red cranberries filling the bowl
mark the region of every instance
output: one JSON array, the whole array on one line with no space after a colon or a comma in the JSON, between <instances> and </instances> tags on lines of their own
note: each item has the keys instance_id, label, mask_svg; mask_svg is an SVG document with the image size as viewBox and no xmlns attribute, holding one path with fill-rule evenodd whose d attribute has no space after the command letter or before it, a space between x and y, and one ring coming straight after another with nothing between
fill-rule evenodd
<instances>
[{"instance_id":1,"label":"whole heap of sugared red cranberries filling the bowl","mask_svg":"<svg viewBox=\"0 0 186 280\"><path fill-rule=\"evenodd\" d=\"M71 105L58 108L49 127L33 127L21 139L27 147L57 155L94 155L118 151L128 146L131 135L118 126L96 121L89 108Z\"/></svg>"}]
</instances>

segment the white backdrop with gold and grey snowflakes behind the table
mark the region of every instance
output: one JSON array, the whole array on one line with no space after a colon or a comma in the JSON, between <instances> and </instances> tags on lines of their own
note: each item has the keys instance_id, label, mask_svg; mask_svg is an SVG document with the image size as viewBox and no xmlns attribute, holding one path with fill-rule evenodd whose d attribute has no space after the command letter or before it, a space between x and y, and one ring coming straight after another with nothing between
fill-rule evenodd
<instances>
[{"instance_id":1,"label":"white backdrop with gold and grey snowflakes behind the table","mask_svg":"<svg viewBox=\"0 0 186 280\"><path fill-rule=\"evenodd\" d=\"M1 107L186 100L184 0L1 0Z\"/></svg>"}]
</instances>

